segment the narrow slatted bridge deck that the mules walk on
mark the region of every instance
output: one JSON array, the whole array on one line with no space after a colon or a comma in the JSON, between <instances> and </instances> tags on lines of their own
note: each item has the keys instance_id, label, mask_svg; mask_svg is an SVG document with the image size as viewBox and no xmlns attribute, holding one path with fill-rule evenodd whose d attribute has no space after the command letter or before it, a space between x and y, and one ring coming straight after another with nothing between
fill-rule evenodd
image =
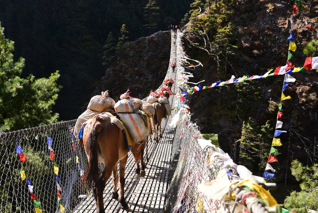
<instances>
[{"instance_id":1,"label":"narrow slatted bridge deck that the mules walk on","mask_svg":"<svg viewBox=\"0 0 318 213\"><path fill-rule=\"evenodd\" d=\"M171 39L175 37L171 35ZM171 42L172 43L172 42ZM170 61L176 61L176 45L171 45ZM174 104L176 91L176 72L172 73L169 66L169 77L175 84L171 89L174 93L169 98L170 104ZM165 193L168 187L170 168L170 156L172 150L173 127L168 125L176 112L172 111L167 119L163 120L159 143L148 140L149 163L146 162L146 175L140 177L135 173L135 162L132 153L129 153L125 171L125 198L130 210L122 210L119 202L111 198L113 188L112 177L106 183L104 190L104 208L107 213L163 213ZM146 152L145 152L146 159ZM96 213L96 203L92 195L85 196L73 213Z\"/></svg>"}]
</instances>

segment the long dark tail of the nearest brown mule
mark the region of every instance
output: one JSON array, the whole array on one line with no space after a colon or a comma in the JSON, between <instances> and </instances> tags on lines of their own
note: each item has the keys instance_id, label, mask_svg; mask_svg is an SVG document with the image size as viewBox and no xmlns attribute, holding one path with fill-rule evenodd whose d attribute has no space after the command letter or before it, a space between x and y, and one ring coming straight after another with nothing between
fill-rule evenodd
<instances>
[{"instance_id":1,"label":"long dark tail of the nearest brown mule","mask_svg":"<svg viewBox=\"0 0 318 213\"><path fill-rule=\"evenodd\" d=\"M88 164L84 178L86 180L86 184L90 188L92 188L99 179L97 136L98 133L101 131L101 127L103 124L103 122L100 122L100 118L102 117L96 116L95 119L92 120L91 130L86 141L86 154L88 156Z\"/></svg>"}]
</instances>

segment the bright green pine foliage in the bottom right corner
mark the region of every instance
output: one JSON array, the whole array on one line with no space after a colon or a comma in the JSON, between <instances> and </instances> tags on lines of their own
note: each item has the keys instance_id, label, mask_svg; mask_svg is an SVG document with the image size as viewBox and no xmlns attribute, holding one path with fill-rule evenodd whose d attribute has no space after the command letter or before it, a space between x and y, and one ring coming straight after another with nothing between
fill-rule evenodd
<instances>
[{"instance_id":1,"label":"bright green pine foliage in the bottom right corner","mask_svg":"<svg viewBox=\"0 0 318 213\"><path fill-rule=\"evenodd\" d=\"M291 165L292 175L300 181L300 192L293 191L284 201L284 206L297 213L318 211L318 164L305 167L298 160ZM313 211L314 210L314 211Z\"/></svg>"}]
</instances>

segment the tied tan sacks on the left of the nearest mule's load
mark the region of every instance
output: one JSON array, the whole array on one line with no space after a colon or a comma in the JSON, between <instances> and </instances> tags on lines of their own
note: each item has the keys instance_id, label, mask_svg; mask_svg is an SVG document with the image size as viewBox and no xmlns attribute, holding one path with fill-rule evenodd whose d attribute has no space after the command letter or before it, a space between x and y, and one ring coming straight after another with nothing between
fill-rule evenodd
<instances>
[{"instance_id":1,"label":"tied tan sacks on the left of the nearest mule's load","mask_svg":"<svg viewBox=\"0 0 318 213\"><path fill-rule=\"evenodd\" d=\"M107 109L114 108L115 101L108 96L108 91L105 91L102 92L101 95L93 96L90 99L87 109L79 115L74 127L73 133L77 139L79 139L79 130L85 121ZM81 141L79 141L79 143L81 143Z\"/></svg>"}]
</instances>

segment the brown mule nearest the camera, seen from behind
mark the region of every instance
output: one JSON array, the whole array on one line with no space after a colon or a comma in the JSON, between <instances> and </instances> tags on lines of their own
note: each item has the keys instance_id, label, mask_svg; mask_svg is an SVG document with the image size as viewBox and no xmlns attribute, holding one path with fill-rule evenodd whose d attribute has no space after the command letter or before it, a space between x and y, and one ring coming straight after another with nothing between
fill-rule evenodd
<instances>
[{"instance_id":1,"label":"brown mule nearest the camera, seen from behind","mask_svg":"<svg viewBox=\"0 0 318 213\"><path fill-rule=\"evenodd\" d=\"M83 144L88 158L84 175L86 184L93 188L97 213L105 213L103 191L111 173L113 173L112 198L118 199L118 169L120 178L120 199L123 209L129 209L124 198L125 167L128 158L128 147L124 132L110 117L97 115L88 122L83 130ZM117 119L117 118L115 118ZM104 169L99 174L98 162L104 163Z\"/></svg>"}]
</instances>

